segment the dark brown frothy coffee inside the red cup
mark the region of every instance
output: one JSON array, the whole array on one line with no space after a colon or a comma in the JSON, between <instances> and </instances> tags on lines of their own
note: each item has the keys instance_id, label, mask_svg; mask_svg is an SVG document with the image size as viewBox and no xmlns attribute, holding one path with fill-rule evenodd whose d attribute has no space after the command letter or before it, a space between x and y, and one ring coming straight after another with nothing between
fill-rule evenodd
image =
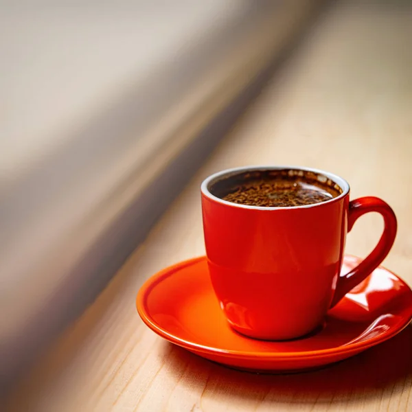
<instances>
[{"instance_id":1,"label":"dark brown frothy coffee inside the red cup","mask_svg":"<svg viewBox=\"0 0 412 412\"><path fill-rule=\"evenodd\" d=\"M330 201L341 187L303 170L256 170L217 181L210 192L224 201L260 207L297 207Z\"/></svg>"}]
</instances>

